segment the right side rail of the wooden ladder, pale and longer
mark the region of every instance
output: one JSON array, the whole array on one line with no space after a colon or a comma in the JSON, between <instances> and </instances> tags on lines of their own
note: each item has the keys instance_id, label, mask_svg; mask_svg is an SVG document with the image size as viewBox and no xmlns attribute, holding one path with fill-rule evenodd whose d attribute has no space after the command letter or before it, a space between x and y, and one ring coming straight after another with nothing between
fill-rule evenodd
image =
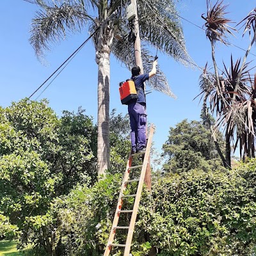
<instances>
[{"instance_id":1,"label":"right side rail of the wooden ladder, pale and longer","mask_svg":"<svg viewBox=\"0 0 256 256\"><path fill-rule=\"evenodd\" d=\"M139 208L139 204L140 204L141 192L143 189L143 183L144 183L144 179L145 179L145 173L146 173L147 165L148 165L148 161L149 161L150 148L151 148L151 144L152 144L153 134L154 134L154 126L152 125L150 127L147 148L146 148L143 165L142 165L142 169L141 169L140 181L139 181L138 188L137 188L136 198L134 200L134 207L133 207L131 221L130 221L127 239L126 239L126 243L125 243L124 256L129 256L129 253L131 250L132 235L134 232L134 226L136 223L138 208Z\"/></svg>"}]
</instances>

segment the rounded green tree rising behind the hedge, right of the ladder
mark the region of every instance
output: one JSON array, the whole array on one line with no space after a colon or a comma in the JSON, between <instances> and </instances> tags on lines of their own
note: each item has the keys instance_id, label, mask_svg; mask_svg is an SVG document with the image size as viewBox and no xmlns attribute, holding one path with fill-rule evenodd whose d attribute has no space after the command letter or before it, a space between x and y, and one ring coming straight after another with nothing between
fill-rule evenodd
<instances>
[{"instance_id":1,"label":"rounded green tree rising behind the hedge, right of the ladder","mask_svg":"<svg viewBox=\"0 0 256 256\"><path fill-rule=\"evenodd\" d=\"M221 141L220 133L217 136ZM221 167L221 159L212 140L209 126L202 121L188 122L185 119L175 128L170 127L163 150L166 157L164 171L167 173L188 172L195 168L209 171Z\"/></svg>"}]
</instances>

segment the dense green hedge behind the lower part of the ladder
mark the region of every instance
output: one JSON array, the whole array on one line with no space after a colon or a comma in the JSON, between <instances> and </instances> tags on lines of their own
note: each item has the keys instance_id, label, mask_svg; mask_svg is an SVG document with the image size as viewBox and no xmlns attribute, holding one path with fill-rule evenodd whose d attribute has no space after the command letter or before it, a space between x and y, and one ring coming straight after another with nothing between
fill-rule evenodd
<instances>
[{"instance_id":1,"label":"dense green hedge behind the lower part of the ladder","mask_svg":"<svg viewBox=\"0 0 256 256\"><path fill-rule=\"evenodd\" d=\"M192 170L154 180L143 193L132 255L252 255L256 243L256 161L227 172ZM79 187L63 201L60 220L70 255L102 255L116 207L120 175ZM129 191L132 193L132 191ZM132 202L124 204L131 209ZM69 221L72 220L72 221ZM127 225L128 214L119 225ZM64 228L65 227L65 228ZM72 234L72 236L70 236ZM125 243L116 232L116 243ZM72 248L72 249L71 249ZM115 255L122 251L114 249Z\"/></svg>"}]
</instances>

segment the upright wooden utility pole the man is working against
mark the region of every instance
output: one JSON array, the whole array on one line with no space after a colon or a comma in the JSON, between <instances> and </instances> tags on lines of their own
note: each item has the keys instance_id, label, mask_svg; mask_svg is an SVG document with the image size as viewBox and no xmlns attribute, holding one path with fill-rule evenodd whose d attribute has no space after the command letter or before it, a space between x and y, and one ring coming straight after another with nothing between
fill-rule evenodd
<instances>
[{"instance_id":1,"label":"upright wooden utility pole the man is working against","mask_svg":"<svg viewBox=\"0 0 256 256\"><path fill-rule=\"evenodd\" d=\"M137 12L137 2L136 0L131 0L131 3L134 4L134 11L135 11L135 17L134 17L134 30L136 33L136 40L134 42L135 62L136 62L136 65L140 67L141 74L143 74L144 70L143 70L143 63L141 59L140 25L139 25L138 12ZM144 88L144 90L145 89L146 88ZM146 126L146 136L147 136L147 126ZM147 171L145 174L145 184L147 186L147 189L150 191L151 190L150 157L148 157Z\"/></svg>"}]
</instances>

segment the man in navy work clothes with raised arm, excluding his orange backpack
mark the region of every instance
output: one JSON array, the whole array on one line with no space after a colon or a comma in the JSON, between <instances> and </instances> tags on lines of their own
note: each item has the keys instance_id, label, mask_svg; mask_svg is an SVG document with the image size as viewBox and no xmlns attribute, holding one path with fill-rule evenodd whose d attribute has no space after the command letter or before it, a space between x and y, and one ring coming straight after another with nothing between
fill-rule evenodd
<instances>
[{"instance_id":1,"label":"man in navy work clothes with raised arm, excluding his orange backpack","mask_svg":"<svg viewBox=\"0 0 256 256\"><path fill-rule=\"evenodd\" d=\"M140 67L133 67L131 79L134 81L136 90L138 91L138 98L132 99L128 104L128 113L131 124L131 145L132 154L145 153L147 135L147 114L146 114L146 97L144 90L144 82L150 77L156 75L157 58L153 62L152 70L146 74L140 74Z\"/></svg>"}]
</instances>

